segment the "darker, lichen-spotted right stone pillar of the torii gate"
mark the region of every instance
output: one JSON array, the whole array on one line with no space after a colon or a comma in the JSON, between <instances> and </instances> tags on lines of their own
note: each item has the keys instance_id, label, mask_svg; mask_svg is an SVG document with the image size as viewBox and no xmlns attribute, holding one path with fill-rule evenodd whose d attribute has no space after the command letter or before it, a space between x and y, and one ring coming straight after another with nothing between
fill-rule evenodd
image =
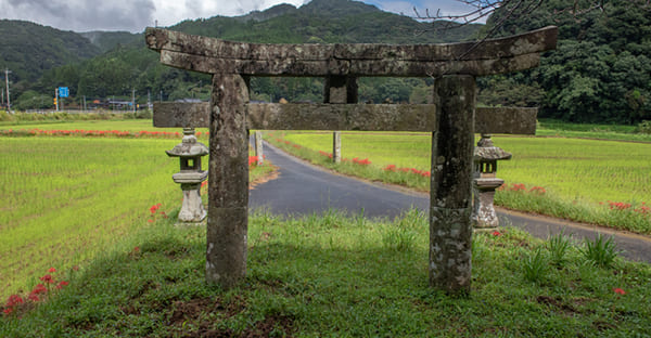
<instances>
[{"instance_id":1,"label":"darker, lichen-spotted right stone pillar of the torii gate","mask_svg":"<svg viewBox=\"0 0 651 338\"><path fill-rule=\"evenodd\" d=\"M432 135L430 285L470 292L475 79L443 76L434 82L438 130Z\"/></svg>"}]
</instances>

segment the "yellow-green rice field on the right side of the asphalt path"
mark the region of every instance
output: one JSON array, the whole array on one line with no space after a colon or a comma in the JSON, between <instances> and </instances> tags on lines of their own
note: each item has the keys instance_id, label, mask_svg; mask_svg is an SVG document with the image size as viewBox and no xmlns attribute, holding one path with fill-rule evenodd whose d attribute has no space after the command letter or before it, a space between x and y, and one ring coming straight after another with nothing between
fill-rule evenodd
<instances>
[{"instance_id":1,"label":"yellow-green rice field on the right side of the asphalt path","mask_svg":"<svg viewBox=\"0 0 651 338\"><path fill-rule=\"evenodd\" d=\"M513 154L511 160L498 165L498 177L509 188L498 192L497 204L651 234L651 143L548 136L493 139L497 146ZM429 188L426 176L387 170L395 166L421 173L429 171L427 134L344 132L342 156L348 161L339 166L324 156L332 152L331 133L270 132L267 140L334 170ZM368 158L370 165L356 165L354 158ZM526 192L513 192L513 184L524 184L526 192L541 187L536 192L545 193L525 196Z\"/></svg>"}]
</instances>

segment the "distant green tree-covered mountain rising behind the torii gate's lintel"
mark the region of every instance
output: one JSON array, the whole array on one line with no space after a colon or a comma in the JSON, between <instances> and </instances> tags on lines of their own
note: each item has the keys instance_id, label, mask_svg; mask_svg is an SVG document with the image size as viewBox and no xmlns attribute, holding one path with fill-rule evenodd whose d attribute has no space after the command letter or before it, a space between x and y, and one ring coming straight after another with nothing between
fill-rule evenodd
<instances>
[{"instance_id":1,"label":"distant green tree-covered mountain rising behind the torii gate's lintel","mask_svg":"<svg viewBox=\"0 0 651 338\"><path fill-rule=\"evenodd\" d=\"M457 30L432 31L432 24L382 12L362 2L312 0L301 8L280 4L237 17L189 20L169 29L225 40L266 43L439 43L471 39L481 27L470 25ZM69 87L73 98L68 100L77 102L82 96L130 96L133 89L140 102L145 102L148 96L157 100L208 98L209 76L162 66L158 54L144 48L140 35L85 32L77 36L90 43L95 53L103 54L46 70L38 81L16 86L21 94L14 100L17 108L51 106L51 100L44 100L43 95L51 96L53 88L59 86ZM425 82L424 79L416 82L413 79L362 79L360 98L365 101L409 101L412 88L425 88ZM254 100L322 100L321 79L256 78L252 83ZM426 89L418 92L417 101L429 96Z\"/></svg>"}]
</instances>

